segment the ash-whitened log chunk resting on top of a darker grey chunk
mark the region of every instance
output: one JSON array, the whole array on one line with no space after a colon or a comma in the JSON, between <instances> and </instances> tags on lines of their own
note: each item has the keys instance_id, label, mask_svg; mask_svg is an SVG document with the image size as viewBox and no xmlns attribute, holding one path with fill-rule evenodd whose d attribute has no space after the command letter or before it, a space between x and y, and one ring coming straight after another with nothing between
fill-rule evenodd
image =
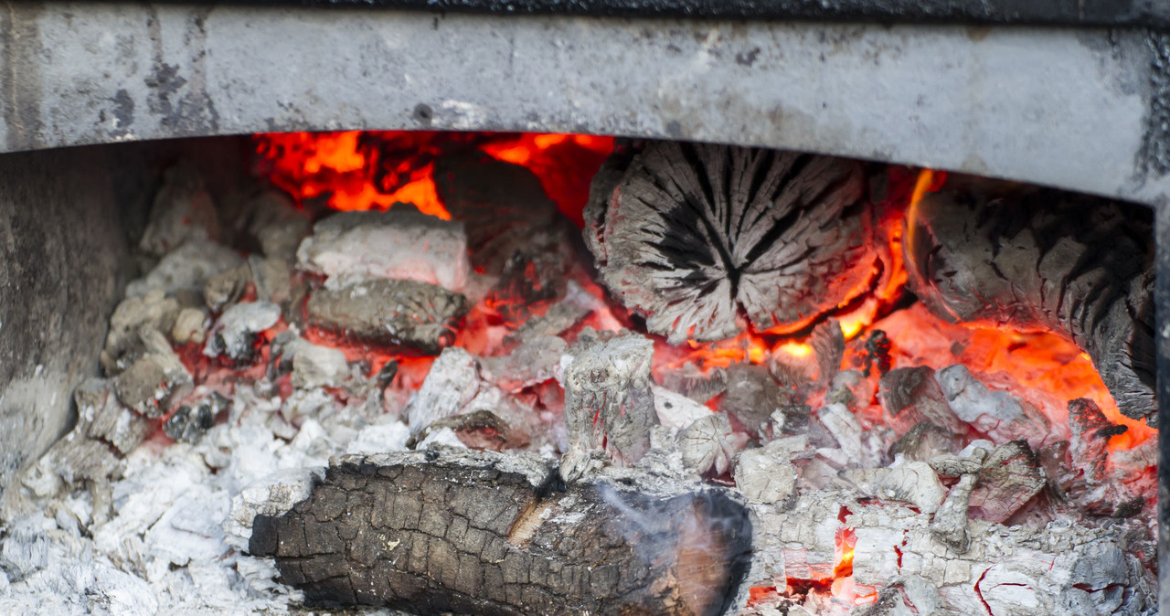
<instances>
[{"instance_id":1,"label":"ash-whitened log chunk resting on top of a darker grey chunk","mask_svg":"<svg viewBox=\"0 0 1170 616\"><path fill-rule=\"evenodd\" d=\"M463 224L427 216L407 203L329 216L301 242L297 262L329 279L407 279L450 291L463 290L470 270Z\"/></svg>"}]
</instances>

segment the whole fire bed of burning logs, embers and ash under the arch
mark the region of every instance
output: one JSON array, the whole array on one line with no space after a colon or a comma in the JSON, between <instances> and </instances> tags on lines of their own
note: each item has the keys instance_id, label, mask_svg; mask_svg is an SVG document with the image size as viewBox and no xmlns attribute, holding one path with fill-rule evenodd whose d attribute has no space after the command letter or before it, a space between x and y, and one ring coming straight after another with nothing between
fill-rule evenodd
<instances>
[{"instance_id":1,"label":"whole fire bed of burning logs, embers and ash under the arch","mask_svg":"<svg viewBox=\"0 0 1170 616\"><path fill-rule=\"evenodd\" d=\"M1154 609L1145 207L586 134L243 146L131 187L0 607Z\"/></svg>"}]
</instances>

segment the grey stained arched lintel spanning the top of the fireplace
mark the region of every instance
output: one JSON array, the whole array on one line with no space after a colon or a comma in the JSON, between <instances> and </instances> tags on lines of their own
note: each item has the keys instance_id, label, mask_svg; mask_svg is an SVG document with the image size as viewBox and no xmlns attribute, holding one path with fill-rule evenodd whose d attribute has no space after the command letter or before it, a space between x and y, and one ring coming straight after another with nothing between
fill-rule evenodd
<instances>
[{"instance_id":1,"label":"grey stained arched lintel spanning the top of the fireplace","mask_svg":"<svg viewBox=\"0 0 1170 616\"><path fill-rule=\"evenodd\" d=\"M887 159L1148 203L1170 186L1170 88L1144 30L4 8L0 151L259 131L579 131Z\"/></svg>"}]
</instances>

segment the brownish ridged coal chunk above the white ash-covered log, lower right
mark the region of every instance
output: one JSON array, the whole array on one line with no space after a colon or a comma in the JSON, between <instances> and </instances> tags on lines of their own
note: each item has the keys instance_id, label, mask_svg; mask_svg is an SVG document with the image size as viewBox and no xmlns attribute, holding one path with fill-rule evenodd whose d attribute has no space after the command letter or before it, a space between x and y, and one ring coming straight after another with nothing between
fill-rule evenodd
<instances>
[{"instance_id":1,"label":"brownish ridged coal chunk above the white ash-covered log, lower right","mask_svg":"<svg viewBox=\"0 0 1170 616\"><path fill-rule=\"evenodd\" d=\"M1003 524L1044 490L1046 479L1032 448L1012 441L996 448L983 463L969 498L969 513Z\"/></svg>"}]
</instances>

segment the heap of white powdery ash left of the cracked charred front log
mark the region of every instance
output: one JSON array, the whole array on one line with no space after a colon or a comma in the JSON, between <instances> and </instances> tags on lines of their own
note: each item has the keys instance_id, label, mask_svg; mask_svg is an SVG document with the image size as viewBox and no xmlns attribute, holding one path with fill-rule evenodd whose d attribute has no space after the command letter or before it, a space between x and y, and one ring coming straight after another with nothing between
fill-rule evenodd
<instances>
[{"instance_id":1,"label":"heap of white powdery ash left of the cracked charred front log","mask_svg":"<svg viewBox=\"0 0 1170 616\"><path fill-rule=\"evenodd\" d=\"M336 414L347 430L307 418L284 441L268 428L280 401L263 388L241 386L229 422L198 443L147 442L121 462L108 521L88 491L29 493L0 538L0 614L300 612L271 563L240 553L252 520L304 498L331 456L402 449L407 429Z\"/></svg>"}]
</instances>

